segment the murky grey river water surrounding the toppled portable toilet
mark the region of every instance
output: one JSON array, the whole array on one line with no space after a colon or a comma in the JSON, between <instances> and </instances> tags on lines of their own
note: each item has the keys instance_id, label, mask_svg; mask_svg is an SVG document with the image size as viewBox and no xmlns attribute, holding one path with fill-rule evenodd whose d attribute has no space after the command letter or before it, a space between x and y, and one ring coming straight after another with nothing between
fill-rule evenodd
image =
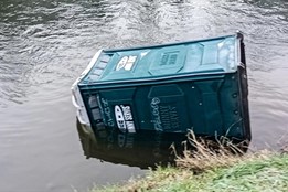
<instances>
[{"instance_id":1,"label":"murky grey river water surrounding the toppled portable toilet","mask_svg":"<svg viewBox=\"0 0 288 192\"><path fill-rule=\"evenodd\" d=\"M142 174L86 160L70 87L99 47L245 34L253 143L288 140L287 0L1 0L0 191L85 191Z\"/></svg>"}]
</instances>

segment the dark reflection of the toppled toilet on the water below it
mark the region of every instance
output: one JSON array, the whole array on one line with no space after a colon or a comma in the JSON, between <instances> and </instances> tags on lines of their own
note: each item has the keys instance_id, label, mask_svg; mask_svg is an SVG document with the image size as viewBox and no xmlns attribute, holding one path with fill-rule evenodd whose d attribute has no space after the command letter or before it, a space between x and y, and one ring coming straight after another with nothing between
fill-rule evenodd
<instances>
[{"instance_id":1,"label":"dark reflection of the toppled toilet on the water below it","mask_svg":"<svg viewBox=\"0 0 288 192\"><path fill-rule=\"evenodd\" d=\"M170 147L173 143L177 149L182 148L182 142L186 138L184 134L147 130L124 134L110 128L94 134L90 127L79 122L77 130L87 158L139 168L173 164L174 152Z\"/></svg>"}]
</instances>

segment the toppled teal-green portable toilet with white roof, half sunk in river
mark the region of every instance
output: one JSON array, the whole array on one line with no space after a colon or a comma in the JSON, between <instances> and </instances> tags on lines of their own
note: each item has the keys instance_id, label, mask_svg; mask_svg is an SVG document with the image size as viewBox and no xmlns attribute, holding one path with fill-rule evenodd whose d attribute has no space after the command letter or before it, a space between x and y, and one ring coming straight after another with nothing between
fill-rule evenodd
<instances>
[{"instance_id":1,"label":"toppled teal-green portable toilet with white roof, half sunk in river","mask_svg":"<svg viewBox=\"0 0 288 192\"><path fill-rule=\"evenodd\" d=\"M74 83L94 130L141 129L250 140L243 35L100 50Z\"/></svg>"}]
</instances>

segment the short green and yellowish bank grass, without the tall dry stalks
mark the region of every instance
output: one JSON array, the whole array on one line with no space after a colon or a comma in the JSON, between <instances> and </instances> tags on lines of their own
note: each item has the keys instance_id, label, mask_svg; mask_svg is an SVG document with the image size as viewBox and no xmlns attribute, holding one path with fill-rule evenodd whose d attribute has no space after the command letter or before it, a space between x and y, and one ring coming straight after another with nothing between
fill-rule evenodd
<instances>
[{"instance_id":1,"label":"short green and yellowish bank grass, without the tall dry stalks","mask_svg":"<svg viewBox=\"0 0 288 192\"><path fill-rule=\"evenodd\" d=\"M145 178L130 179L124 185L94 188L90 192L118 191L286 191L288 153L260 151L247 159L194 173L188 167L159 167Z\"/></svg>"}]
</instances>

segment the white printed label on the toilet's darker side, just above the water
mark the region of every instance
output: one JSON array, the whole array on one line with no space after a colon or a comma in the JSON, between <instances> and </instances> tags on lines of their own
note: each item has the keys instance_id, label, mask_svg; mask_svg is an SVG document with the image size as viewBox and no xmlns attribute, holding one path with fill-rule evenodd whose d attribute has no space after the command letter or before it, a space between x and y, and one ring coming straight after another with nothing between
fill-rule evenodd
<instances>
[{"instance_id":1,"label":"white printed label on the toilet's darker side, just above the water","mask_svg":"<svg viewBox=\"0 0 288 192\"><path fill-rule=\"evenodd\" d=\"M117 127L122 132L135 132L134 117L129 105L116 105L115 118Z\"/></svg>"}]
</instances>

